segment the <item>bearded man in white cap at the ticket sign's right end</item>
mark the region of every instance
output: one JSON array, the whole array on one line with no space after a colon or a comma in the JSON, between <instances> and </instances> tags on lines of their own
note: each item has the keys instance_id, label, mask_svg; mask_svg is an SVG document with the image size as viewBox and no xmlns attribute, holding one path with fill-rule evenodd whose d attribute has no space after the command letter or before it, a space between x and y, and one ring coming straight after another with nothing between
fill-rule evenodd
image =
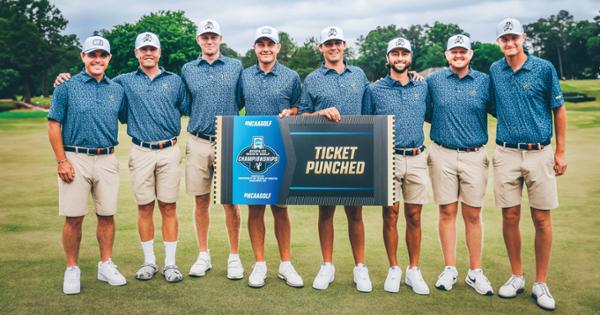
<instances>
[{"instance_id":1,"label":"bearded man in white cap at the ticket sign's right end","mask_svg":"<svg viewBox=\"0 0 600 315\"><path fill-rule=\"evenodd\" d=\"M402 191L406 218L406 245L409 264L405 282L417 294L429 294L418 267L421 248L421 209L427 199L427 153L423 145L423 124L429 95L427 82L415 81L408 69L412 63L412 47L402 37L392 39L387 46L386 67L389 74L371 84L365 99L365 111L372 115L394 115L395 184ZM399 204L383 207L383 239L390 269L383 289L398 292L402 270L398 265Z\"/></svg>"}]
</instances>

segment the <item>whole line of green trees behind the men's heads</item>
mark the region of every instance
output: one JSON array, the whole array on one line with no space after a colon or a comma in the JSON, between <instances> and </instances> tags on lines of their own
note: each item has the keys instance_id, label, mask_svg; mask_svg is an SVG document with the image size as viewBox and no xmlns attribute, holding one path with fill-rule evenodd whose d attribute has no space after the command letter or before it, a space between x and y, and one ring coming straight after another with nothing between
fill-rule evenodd
<instances>
[{"instance_id":1,"label":"whole line of green trees behind the men's heads","mask_svg":"<svg viewBox=\"0 0 600 315\"><path fill-rule=\"evenodd\" d=\"M62 34L68 21L48 0L0 0L0 98L23 95L29 102L32 95L50 93L50 83L57 73L79 72L79 41L75 35ZM550 60L562 78L598 78L600 75L600 15L593 20L574 20L565 10L557 15L525 25L530 53ZM159 11L142 16L134 23L123 23L96 33L106 37L113 54L107 74L133 71L138 62L133 55L137 34L156 33L162 46L161 65L178 73L186 62L197 58L196 24L183 11ZM348 61L361 67L369 80L385 76L387 42L403 36L413 46L413 69L443 67L446 40L455 34L465 34L458 24L435 22L431 25L377 26L361 35L348 49ZM92 35L92 34L90 34ZM317 68L322 57L318 41L310 37L298 44L285 31L280 33L279 61L304 78ZM487 72L502 53L495 43L474 40L472 67ZM252 49L240 54L221 45L221 52L238 58L245 67L256 63Z\"/></svg>"}]
</instances>

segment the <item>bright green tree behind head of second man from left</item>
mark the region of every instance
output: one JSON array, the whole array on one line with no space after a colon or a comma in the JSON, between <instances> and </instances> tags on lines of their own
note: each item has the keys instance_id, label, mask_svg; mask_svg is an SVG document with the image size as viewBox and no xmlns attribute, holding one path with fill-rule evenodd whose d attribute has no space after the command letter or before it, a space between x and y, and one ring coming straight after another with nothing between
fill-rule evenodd
<instances>
[{"instance_id":1,"label":"bright green tree behind head of second man from left","mask_svg":"<svg viewBox=\"0 0 600 315\"><path fill-rule=\"evenodd\" d=\"M142 16L137 22L124 23L100 33L111 45L112 60L107 70L109 76L130 72L138 68L135 58L135 38L143 32L158 35L161 45L160 64L169 71L179 73L188 61L197 58L196 24L183 11L159 11Z\"/></svg>"}]
</instances>

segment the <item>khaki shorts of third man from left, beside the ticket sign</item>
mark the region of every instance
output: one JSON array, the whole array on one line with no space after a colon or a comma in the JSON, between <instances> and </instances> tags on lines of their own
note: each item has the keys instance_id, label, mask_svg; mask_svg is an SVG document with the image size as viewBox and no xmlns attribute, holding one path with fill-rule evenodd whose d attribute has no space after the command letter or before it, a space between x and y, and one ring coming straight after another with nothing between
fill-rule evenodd
<instances>
[{"instance_id":1,"label":"khaki shorts of third man from left, beside the ticket sign","mask_svg":"<svg viewBox=\"0 0 600 315\"><path fill-rule=\"evenodd\" d=\"M208 140L189 135L185 150L187 158L185 168L186 192L192 196L209 194L215 163L215 147Z\"/></svg>"}]
</instances>

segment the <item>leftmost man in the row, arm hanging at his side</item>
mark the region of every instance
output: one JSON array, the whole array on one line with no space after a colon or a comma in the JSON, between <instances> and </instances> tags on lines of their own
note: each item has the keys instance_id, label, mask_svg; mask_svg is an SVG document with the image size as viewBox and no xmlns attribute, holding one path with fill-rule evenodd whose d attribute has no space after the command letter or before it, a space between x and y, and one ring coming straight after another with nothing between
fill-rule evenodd
<instances>
[{"instance_id":1,"label":"leftmost man in the row, arm hanging at his side","mask_svg":"<svg viewBox=\"0 0 600 315\"><path fill-rule=\"evenodd\" d=\"M118 120L125 121L126 114L123 88L104 75L110 58L105 38L86 38L81 51L85 69L54 90L48 113L48 137L58 162L59 214L65 217L65 294L80 292L77 260L90 193L98 218L98 280L113 286L127 283L111 260L119 194L119 162L114 151L119 143Z\"/></svg>"}]
</instances>

